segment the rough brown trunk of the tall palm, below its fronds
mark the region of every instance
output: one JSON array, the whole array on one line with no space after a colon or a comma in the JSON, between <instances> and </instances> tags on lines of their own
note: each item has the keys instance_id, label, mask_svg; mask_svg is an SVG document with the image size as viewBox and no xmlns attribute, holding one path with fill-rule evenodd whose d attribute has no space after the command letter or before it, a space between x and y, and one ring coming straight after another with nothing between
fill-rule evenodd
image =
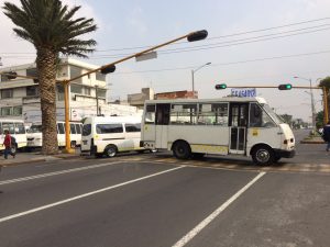
<instances>
[{"instance_id":1,"label":"rough brown trunk of the tall palm, below its fronds","mask_svg":"<svg viewBox=\"0 0 330 247\"><path fill-rule=\"evenodd\" d=\"M56 126L56 53L37 48L36 67L42 111L43 155L58 154Z\"/></svg>"}]
</instances>

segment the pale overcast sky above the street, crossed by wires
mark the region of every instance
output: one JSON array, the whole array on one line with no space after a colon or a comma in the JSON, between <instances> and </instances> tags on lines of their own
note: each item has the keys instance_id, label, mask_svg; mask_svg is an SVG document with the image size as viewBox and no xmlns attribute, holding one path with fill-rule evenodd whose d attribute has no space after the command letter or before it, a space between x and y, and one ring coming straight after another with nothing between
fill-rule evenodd
<instances>
[{"instance_id":1,"label":"pale overcast sky above the street, crossed by wires","mask_svg":"<svg viewBox=\"0 0 330 247\"><path fill-rule=\"evenodd\" d=\"M3 0L0 0L1 7ZM11 1L19 3L18 0ZM87 63L105 65L193 31L209 36L196 43L178 42L158 49L157 59L118 65L108 76L111 99L127 99L143 87L155 92L191 90L195 72L199 98L217 98L233 86L317 85L330 76L330 0L65 0L81 5L78 15L94 18L91 36L97 52ZM14 36L13 24L0 13L3 67L34 61L31 44ZM305 79L294 79L299 76ZM317 111L320 90L314 90ZM257 89L277 113L310 120L309 90Z\"/></svg>"}]
</instances>

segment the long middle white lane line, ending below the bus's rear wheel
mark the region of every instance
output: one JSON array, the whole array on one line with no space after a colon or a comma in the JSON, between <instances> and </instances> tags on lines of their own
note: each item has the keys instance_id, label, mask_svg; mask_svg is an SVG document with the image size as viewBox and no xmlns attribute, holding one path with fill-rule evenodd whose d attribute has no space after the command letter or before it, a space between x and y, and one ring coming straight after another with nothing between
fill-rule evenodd
<instances>
[{"instance_id":1,"label":"long middle white lane line, ending below the bus's rear wheel","mask_svg":"<svg viewBox=\"0 0 330 247\"><path fill-rule=\"evenodd\" d=\"M47 204L47 205L38 206L38 207L28 210L28 211L24 211L24 212L21 212L21 213L16 213L16 214L12 214L12 215L9 215L9 216L6 216L6 217L1 217L0 223L10 221L10 220L13 220L13 218L16 218L16 217L21 217L21 216L24 216L24 215L28 215L28 214L32 214L32 213L35 213L35 212L38 212L38 211L42 211L42 210L46 210L46 209L50 209L50 207L53 207L53 206L65 204L65 203L72 202L72 201L76 201L76 200L79 200L79 199L82 199L82 198L87 198L87 197L90 197L90 195L94 195L94 194L97 194L97 193L101 193L101 192L105 192L105 191L108 191L108 190L113 190L113 189L119 188L119 187L123 187L123 186L128 186L128 184L131 184L131 183L134 183L134 182L139 182L139 181L142 181L144 179L148 179L148 178L153 178L153 177L156 177L156 176L160 176L160 175L164 175L164 173L167 173L167 172L170 172L170 171L174 171L174 170L182 169L185 166L179 166L179 167L172 168L172 169L164 170L164 171L160 171L160 172L156 172L156 173L153 173L153 175L144 176L144 177L141 177L141 178L138 178L138 179L133 179L133 180L130 180L130 181L127 181L127 182L118 183L116 186L106 187L106 188L102 188L102 189L99 189L99 190L95 190L95 191L91 191L91 192L88 192L88 193L85 193L85 194L80 194L80 195L77 195L77 197L74 197L74 198L69 198L69 199L66 199L66 200L63 200L63 201L54 202L54 203L51 203L51 204Z\"/></svg>"}]
</instances>

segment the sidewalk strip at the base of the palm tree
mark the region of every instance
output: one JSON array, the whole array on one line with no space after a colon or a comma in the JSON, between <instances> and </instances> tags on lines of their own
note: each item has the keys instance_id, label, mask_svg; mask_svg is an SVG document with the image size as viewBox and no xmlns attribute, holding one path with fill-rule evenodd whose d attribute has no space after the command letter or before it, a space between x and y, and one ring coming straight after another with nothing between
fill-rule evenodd
<instances>
[{"instance_id":1,"label":"sidewalk strip at the base of the palm tree","mask_svg":"<svg viewBox=\"0 0 330 247\"><path fill-rule=\"evenodd\" d=\"M76 151L75 154L58 154L44 156L40 151L34 153L16 153L15 158L9 155L8 159L4 159L3 154L0 156L0 166L13 166L13 165L24 165L30 162L42 162L42 161L53 161L59 159L77 159L80 158L80 154Z\"/></svg>"}]
</instances>

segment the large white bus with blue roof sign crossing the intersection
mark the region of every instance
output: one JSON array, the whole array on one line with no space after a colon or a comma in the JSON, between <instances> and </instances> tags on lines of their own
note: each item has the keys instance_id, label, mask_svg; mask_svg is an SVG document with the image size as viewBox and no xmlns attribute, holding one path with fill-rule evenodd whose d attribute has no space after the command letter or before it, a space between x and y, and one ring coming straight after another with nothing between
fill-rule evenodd
<instances>
[{"instance_id":1,"label":"large white bus with blue roof sign crossing the intersection","mask_svg":"<svg viewBox=\"0 0 330 247\"><path fill-rule=\"evenodd\" d=\"M140 145L179 159L241 155L258 165L295 155L292 128L262 98L146 101Z\"/></svg>"}]
</instances>

